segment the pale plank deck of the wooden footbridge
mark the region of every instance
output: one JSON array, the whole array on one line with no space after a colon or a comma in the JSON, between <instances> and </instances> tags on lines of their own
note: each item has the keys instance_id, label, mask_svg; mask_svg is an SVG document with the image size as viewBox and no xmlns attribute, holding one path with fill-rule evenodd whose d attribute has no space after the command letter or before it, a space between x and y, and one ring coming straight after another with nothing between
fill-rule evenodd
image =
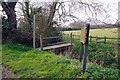
<instances>
[{"instance_id":1,"label":"pale plank deck of the wooden footbridge","mask_svg":"<svg viewBox=\"0 0 120 80\"><path fill-rule=\"evenodd\" d=\"M43 47L43 50L51 50L56 48L69 47L69 46L72 46L71 43L47 46L47 47ZM41 50L41 48L38 48L38 50Z\"/></svg>"}]
</instances>

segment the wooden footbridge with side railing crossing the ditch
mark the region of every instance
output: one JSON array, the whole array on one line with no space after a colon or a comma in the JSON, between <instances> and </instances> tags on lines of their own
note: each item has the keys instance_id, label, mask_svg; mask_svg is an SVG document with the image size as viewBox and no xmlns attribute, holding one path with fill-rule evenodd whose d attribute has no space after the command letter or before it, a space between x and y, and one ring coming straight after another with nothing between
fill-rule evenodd
<instances>
[{"instance_id":1,"label":"wooden footbridge with side railing crossing the ditch","mask_svg":"<svg viewBox=\"0 0 120 80\"><path fill-rule=\"evenodd\" d=\"M62 39L62 36L55 36L55 37L46 37L42 38L40 36L40 48L37 48L38 50L45 50L45 51L51 51L55 54L65 54L70 53L73 47L73 43L65 43L65 42L57 42L57 43L51 43L47 44L47 46L43 47L43 41L49 40L49 39ZM72 39L70 39L71 41Z\"/></svg>"}]
</instances>

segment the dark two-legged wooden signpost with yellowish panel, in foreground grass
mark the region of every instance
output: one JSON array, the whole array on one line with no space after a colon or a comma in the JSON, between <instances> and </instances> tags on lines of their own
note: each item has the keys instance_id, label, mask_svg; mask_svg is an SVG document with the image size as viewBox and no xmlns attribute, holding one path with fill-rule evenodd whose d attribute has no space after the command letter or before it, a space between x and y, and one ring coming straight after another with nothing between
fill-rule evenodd
<instances>
[{"instance_id":1,"label":"dark two-legged wooden signpost with yellowish panel, in foreground grass","mask_svg":"<svg viewBox=\"0 0 120 80\"><path fill-rule=\"evenodd\" d=\"M86 24L81 29L80 62L82 61L82 57L83 57L83 54L84 54L84 59L83 59L83 74L85 73L85 70L86 70L86 62L87 62L87 54L88 54L88 43L89 43L89 29L90 29L90 24Z\"/></svg>"}]
</instances>

